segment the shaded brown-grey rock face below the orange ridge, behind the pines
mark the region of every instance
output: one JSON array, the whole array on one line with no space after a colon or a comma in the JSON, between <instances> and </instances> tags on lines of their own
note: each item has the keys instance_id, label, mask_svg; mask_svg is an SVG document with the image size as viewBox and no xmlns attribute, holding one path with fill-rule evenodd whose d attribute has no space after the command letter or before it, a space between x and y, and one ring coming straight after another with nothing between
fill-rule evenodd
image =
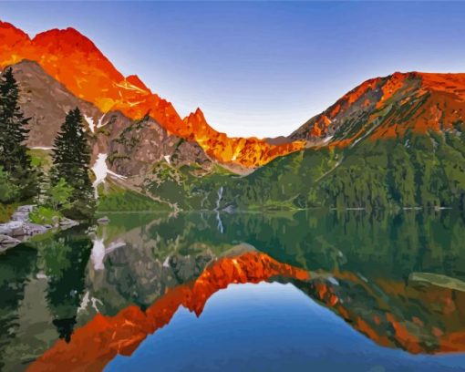
<instances>
[{"instance_id":1,"label":"shaded brown-grey rock face below the orange ridge, behind the pines","mask_svg":"<svg viewBox=\"0 0 465 372\"><path fill-rule=\"evenodd\" d=\"M52 147L67 112L78 107L87 124L93 161L98 154L107 154L111 171L129 177L145 174L159 160L206 169L212 166L196 142L169 134L151 118L133 120L119 110L104 114L92 103L74 96L34 61L25 59L12 68L20 88L21 108L31 118L30 147Z\"/></svg>"}]
</instances>

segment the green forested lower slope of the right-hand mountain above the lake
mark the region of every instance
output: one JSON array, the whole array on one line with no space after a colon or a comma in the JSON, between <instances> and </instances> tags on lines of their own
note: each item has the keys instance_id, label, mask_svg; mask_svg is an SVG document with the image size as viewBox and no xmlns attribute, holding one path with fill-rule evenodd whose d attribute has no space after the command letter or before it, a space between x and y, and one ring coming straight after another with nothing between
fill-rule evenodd
<instances>
[{"instance_id":1,"label":"green forested lower slope of the right-hand mountain above the lake","mask_svg":"<svg viewBox=\"0 0 465 372\"><path fill-rule=\"evenodd\" d=\"M456 123L455 131L444 134L362 140L343 151L300 151L229 181L233 197L225 202L242 209L462 207L462 127Z\"/></svg>"}]
</instances>

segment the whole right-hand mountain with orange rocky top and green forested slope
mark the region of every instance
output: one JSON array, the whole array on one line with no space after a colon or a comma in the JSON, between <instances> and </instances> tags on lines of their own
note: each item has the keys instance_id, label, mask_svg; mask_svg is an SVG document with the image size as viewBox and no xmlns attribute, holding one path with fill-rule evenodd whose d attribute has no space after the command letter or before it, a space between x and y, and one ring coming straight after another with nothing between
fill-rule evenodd
<instances>
[{"instance_id":1,"label":"whole right-hand mountain with orange rocky top and green forested slope","mask_svg":"<svg viewBox=\"0 0 465 372\"><path fill-rule=\"evenodd\" d=\"M464 113L465 74L370 79L287 139L305 150L242 178L194 180L184 205L214 205L221 190L222 207L240 209L463 207Z\"/></svg>"}]
</instances>

